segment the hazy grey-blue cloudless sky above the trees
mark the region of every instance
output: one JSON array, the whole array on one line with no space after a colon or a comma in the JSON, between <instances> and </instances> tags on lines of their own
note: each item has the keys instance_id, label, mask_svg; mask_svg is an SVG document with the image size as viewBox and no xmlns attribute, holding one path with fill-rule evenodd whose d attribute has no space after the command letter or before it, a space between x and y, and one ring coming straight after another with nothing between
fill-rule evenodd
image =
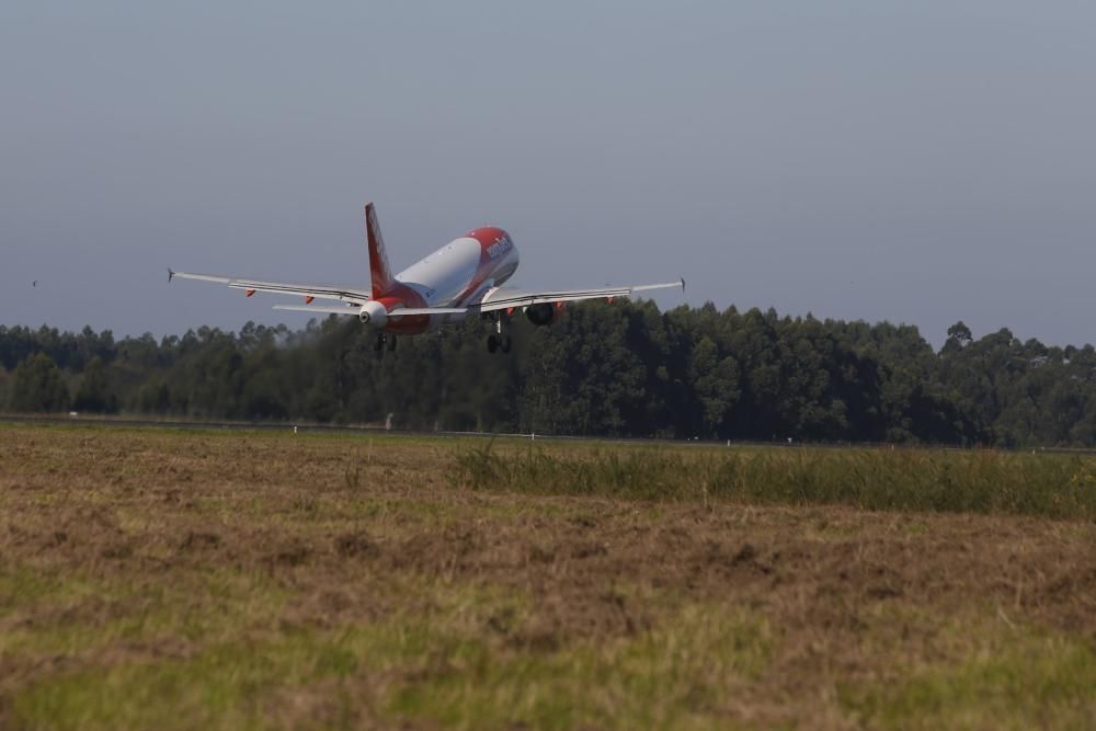
<instances>
[{"instance_id":1,"label":"hazy grey-blue cloudless sky above the trees","mask_svg":"<svg viewBox=\"0 0 1096 731\"><path fill-rule=\"evenodd\" d=\"M367 281L505 227L523 286L1096 341L1096 4L0 4L0 323L302 325L167 267ZM38 286L31 286L37 279Z\"/></svg>"}]
</instances>

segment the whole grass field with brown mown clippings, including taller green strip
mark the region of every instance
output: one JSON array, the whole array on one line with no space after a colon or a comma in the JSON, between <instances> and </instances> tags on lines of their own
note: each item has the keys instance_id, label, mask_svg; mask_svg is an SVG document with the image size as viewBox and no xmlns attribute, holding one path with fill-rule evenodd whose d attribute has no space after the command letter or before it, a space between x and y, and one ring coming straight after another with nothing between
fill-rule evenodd
<instances>
[{"instance_id":1,"label":"whole grass field with brown mown clippings, including taller green strip","mask_svg":"<svg viewBox=\"0 0 1096 731\"><path fill-rule=\"evenodd\" d=\"M0 425L3 729L1094 723L1091 458Z\"/></svg>"}]
</instances>

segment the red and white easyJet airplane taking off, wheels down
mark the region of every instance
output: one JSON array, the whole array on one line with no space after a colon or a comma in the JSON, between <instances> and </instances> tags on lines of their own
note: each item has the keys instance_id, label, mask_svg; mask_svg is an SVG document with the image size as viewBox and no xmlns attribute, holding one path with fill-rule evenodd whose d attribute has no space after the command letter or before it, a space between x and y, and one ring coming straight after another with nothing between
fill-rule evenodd
<instances>
[{"instance_id":1,"label":"red and white easyJet airplane taking off, wheels down","mask_svg":"<svg viewBox=\"0 0 1096 731\"><path fill-rule=\"evenodd\" d=\"M495 332L487 339L489 353L509 353L512 346L506 332L509 318L521 309L538 327L550 324L563 302L582 299L630 297L637 292L681 287L685 279L661 284L587 289L547 289L532 292L505 287L517 271L517 248L501 228L473 228L399 274L392 274L385 240L372 203L365 206L366 242L369 250L369 287L261 282L212 274L191 274L168 270L168 282L175 278L227 284L243 289L248 297L256 292L296 295L304 305L275 305L276 310L317 315L346 315L376 329L374 350L396 350L397 335L415 335L479 315L494 320ZM317 299L342 305L312 306Z\"/></svg>"}]
</instances>

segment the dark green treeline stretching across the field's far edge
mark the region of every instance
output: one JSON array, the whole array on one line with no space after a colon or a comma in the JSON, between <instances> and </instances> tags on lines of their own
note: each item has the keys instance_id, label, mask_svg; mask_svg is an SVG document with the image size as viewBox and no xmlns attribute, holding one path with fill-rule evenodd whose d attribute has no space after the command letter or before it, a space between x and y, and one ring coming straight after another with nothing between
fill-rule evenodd
<instances>
[{"instance_id":1,"label":"dark green treeline stretching across the field's far edge","mask_svg":"<svg viewBox=\"0 0 1096 731\"><path fill-rule=\"evenodd\" d=\"M159 416L549 434L1096 446L1096 351L916 328L651 302L569 307L400 339L353 319L157 341L0 327L0 404Z\"/></svg>"}]
</instances>

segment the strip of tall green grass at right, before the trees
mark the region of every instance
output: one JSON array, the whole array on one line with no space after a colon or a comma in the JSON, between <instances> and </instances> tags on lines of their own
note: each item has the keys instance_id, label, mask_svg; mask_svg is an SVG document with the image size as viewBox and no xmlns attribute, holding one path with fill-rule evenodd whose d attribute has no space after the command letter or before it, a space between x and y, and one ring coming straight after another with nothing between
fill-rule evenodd
<instances>
[{"instance_id":1,"label":"strip of tall green grass at right, before the trees","mask_svg":"<svg viewBox=\"0 0 1096 731\"><path fill-rule=\"evenodd\" d=\"M457 456L472 490L654 501L850 505L1096 519L1096 459L1001 452L499 450Z\"/></svg>"}]
</instances>

